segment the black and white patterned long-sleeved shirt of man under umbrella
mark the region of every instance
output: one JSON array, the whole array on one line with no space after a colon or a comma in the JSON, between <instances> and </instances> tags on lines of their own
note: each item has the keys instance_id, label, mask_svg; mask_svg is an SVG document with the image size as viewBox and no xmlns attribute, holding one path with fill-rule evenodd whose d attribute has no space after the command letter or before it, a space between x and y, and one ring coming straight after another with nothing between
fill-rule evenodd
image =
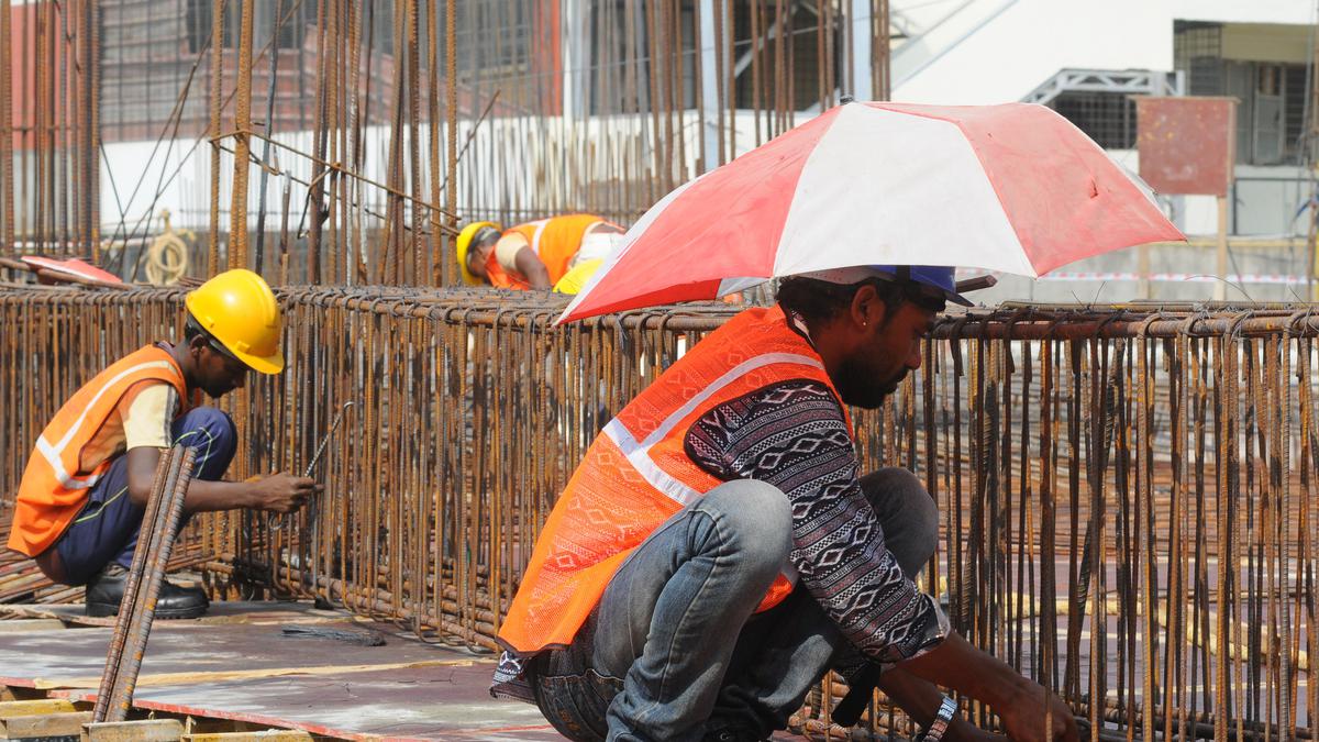
<instances>
[{"instance_id":1,"label":"black and white patterned long-sleeved shirt of man under umbrella","mask_svg":"<svg viewBox=\"0 0 1319 742\"><path fill-rule=\"evenodd\" d=\"M938 603L902 574L884 544L843 408L827 387L780 382L727 401L687 430L686 449L719 479L760 479L787 495L799 585L864 656L896 663L947 636ZM532 701L522 661L505 652L491 691Z\"/></svg>"}]
</instances>

